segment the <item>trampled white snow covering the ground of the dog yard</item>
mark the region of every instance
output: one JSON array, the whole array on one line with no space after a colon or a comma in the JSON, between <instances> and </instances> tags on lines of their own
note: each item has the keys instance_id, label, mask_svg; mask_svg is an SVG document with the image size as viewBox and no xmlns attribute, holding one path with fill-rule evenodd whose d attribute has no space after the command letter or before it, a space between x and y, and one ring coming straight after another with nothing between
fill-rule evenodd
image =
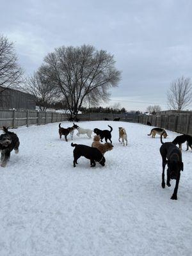
<instances>
[{"instance_id":1,"label":"trampled white snow covering the ground of the dog yard","mask_svg":"<svg viewBox=\"0 0 192 256\"><path fill-rule=\"evenodd\" d=\"M59 139L58 124L13 130L20 152L0 168L0 255L191 255L191 150L182 151L178 200L170 200L175 181L161 188L161 143L158 135L147 136L152 127L79 122L91 129L108 124L114 148L105 155L106 166L95 168L84 157L73 167L74 148ZM127 130L127 147L118 143L120 126ZM74 143L91 145L86 135L75 134ZM164 141L178 134L168 135Z\"/></svg>"}]
</instances>

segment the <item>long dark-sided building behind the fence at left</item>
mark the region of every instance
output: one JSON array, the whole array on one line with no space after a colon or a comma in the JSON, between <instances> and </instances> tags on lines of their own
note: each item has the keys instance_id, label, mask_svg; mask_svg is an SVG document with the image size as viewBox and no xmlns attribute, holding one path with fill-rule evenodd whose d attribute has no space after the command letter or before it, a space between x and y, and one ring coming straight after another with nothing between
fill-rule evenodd
<instances>
[{"instance_id":1,"label":"long dark-sided building behind the fence at left","mask_svg":"<svg viewBox=\"0 0 192 256\"><path fill-rule=\"evenodd\" d=\"M1 109L35 109L35 106L33 95L0 86Z\"/></svg>"}]
</instances>

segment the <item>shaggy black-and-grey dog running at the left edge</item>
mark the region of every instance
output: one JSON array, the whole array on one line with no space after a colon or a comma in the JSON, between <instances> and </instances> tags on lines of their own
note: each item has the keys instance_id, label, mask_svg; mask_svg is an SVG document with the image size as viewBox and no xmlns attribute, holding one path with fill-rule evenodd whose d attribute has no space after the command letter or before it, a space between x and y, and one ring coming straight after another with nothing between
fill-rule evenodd
<instances>
[{"instance_id":1,"label":"shaggy black-and-grey dog running at the left edge","mask_svg":"<svg viewBox=\"0 0 192 256\"><path fill-rule=\"evenodd\" d=\"M14 132L9 132L8 128L3 126L4 134L0 136L0 150L1 150L1 166L5 167L7 161L10 159L10 153L15 150L15 154L19 152L19 138Z\"/></svg>"}]
</instances>

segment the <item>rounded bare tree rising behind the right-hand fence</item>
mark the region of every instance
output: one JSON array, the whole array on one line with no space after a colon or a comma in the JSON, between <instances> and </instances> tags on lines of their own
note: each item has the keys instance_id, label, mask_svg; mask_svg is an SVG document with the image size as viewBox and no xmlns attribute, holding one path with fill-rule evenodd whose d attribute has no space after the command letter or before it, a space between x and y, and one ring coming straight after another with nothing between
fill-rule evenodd
<instances>
[{"instance_id":1,"label":"rounded bare tree rising behind the right-hand fence","mask_svg":"<svg viewBox=\"0 0 192 256\"><path fill-rule=\"evenodd\" d=\"M168 90L168 104L170 108L182 110L192 102L192 84L189 77L175 79Z\"/></svg>"}]
</instances>

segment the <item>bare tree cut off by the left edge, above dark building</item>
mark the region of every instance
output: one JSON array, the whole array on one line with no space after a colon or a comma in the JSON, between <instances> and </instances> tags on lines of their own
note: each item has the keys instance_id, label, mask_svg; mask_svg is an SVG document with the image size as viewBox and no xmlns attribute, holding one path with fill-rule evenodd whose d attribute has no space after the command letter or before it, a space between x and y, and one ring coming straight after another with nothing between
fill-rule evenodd
<instances>
[{"instance_id":1,"label":"bare tree cut off by the left edge, above dark building","mask_svg":"<svg viewBox=\"0 0 192 256\"><path fill-rule=\"evenodd\" d=\"M13 42L0 35L0 93L6 88L15 87L22 81L22 69L19 66Z\"/></svg>"}]
</instances>

